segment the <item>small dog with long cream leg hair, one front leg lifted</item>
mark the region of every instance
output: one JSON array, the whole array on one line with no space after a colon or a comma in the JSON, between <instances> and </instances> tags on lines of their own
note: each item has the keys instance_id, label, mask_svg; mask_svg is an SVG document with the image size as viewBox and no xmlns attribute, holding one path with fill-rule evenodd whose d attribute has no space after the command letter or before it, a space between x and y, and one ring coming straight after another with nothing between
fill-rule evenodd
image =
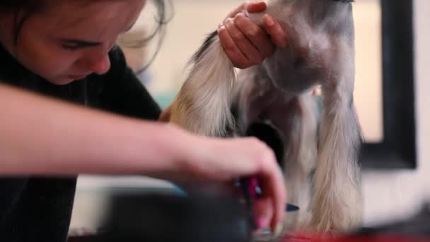
<instances>
[{"instance_id":1,"label":"small dog with long cream leg hair, one front leg lifted","mask_svg":"<svg viewBox=\"0 0 430 242\"><path fill-rule=\"evenodd\" d=\"M262 64L235 68L209 35L170 110L170 122L196 134L243 136L255 122L284 140L289 202L302 211L286 226L347 232L361 225L359 125L353 110L354 21L351 0L267 0L289 48ZM262 26L263 13L249 14ZM236 78L237 77L237 78ZM312 91L322 92L322 112Z\"/></svg>"}]
</instances>

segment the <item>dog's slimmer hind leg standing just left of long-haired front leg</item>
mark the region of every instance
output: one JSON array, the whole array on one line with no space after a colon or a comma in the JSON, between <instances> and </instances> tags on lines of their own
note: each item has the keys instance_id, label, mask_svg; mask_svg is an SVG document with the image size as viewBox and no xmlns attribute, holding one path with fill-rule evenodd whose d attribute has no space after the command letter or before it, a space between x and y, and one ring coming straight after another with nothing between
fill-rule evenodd
<instances>
[{"instance_id":1,"label":"dog's slimmer hind leg standing just left of long-haired front leg","mask_svg":"<svg viewBox=\"0 0 430 242\"><path fill-rule=\"evenodd\" d=\"M289 127L284 130L285 135L289 135L288 149L286 149L288 160L284 172L291 203L301 208L294 214L296 219L291 224L291 229L300 231L309 226L312 218L308 207L311 195L310 178L315 169L318 153L316 143L319 113L317 100L310 93L298 96L295 102L295 107L288 110Z\"/></svg>"}]
</instances>

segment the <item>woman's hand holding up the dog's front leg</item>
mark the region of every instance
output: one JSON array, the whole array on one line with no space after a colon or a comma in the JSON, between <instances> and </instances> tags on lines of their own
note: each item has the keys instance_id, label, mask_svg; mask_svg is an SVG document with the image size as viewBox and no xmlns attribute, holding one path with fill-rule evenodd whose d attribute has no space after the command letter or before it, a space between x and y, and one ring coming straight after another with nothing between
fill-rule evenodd
<instances>
[{"instance_id":1,"label":"woman's hand holding up the dog's front leg","mask_svg":"<svg viewBox=\"0 0 430 242\"><path fill-rule=\"evenodd\" d=\"M267 14L263 16L263 29L243 13L260 13L266 7L262 1L247 1L229 13L219 25L221 45L235 67L245 69L260 64L266 57L272 56L276 46L287 47L286 31L274 18Z\"/></svg>"}]
</instances>

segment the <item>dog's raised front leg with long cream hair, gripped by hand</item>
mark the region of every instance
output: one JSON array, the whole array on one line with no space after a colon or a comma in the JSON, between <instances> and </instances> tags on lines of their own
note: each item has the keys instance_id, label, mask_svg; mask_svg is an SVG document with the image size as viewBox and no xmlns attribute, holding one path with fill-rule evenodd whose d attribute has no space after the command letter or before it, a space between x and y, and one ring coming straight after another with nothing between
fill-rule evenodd
<instances>
[{"instance_id":1,"label":"dog's raised front leg with long cream hair, gripped by hand","mask_svg":"<svg viewBox=\"0 0 430 242\"><path fill-rule=\"evenodd\" d=\"M194 134L226 136L234 126L230 106L236 72L216 32L190 64L190 74L171 106L170 122Z\"/></svg>"}]
</instances>

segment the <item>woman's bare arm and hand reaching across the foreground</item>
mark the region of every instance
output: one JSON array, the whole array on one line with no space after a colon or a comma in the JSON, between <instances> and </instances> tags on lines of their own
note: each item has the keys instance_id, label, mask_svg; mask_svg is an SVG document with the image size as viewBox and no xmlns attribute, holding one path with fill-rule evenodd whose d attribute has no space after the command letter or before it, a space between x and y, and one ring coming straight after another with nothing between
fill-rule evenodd
<instances>
[{"instance_id":1,"label":"woman's bare arm and hand reaching across the foreground","mask_svg":"<svg viewBox=\"0 0 430 242\"><path fill-rule=\"evenodd\" d=\"M141 174L232 181L257 175L284 217L286 190L273 152L254 138L197 137L166 123L102 113L0 85L0 176Z\"/></svg>"}]
</instances>

